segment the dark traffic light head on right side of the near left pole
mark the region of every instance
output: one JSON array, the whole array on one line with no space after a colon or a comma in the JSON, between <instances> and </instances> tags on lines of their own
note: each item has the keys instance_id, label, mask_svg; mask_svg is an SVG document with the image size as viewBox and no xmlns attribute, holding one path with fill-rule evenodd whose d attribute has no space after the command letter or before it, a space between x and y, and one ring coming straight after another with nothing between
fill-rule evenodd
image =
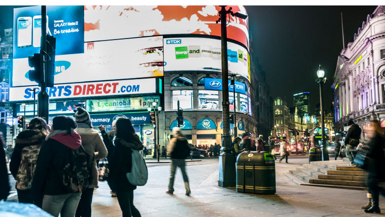
<instances>
[{"instance_id":1,"label":"dark traffic light head on right side of the near left pole","mask_svg":"<svg viewBox=\"0 0 385 217\"><path fill-rule=\"evenodd\" d=\"M49 60L49 58L51 58L51 60L48 61L47 65L46 65L46 67L47 67L47 70L46 70L46 73L47 73L46 85L47 85L47 87L54 87L55 50L56 50L56 38L51 36L51 35L47 35L47 53L50 56L50 57L48 57L48 60ZM61 70L62 70L61 68L60 69L58 68L58 72L60 72Z\"/></svg>"}]
</instances>

